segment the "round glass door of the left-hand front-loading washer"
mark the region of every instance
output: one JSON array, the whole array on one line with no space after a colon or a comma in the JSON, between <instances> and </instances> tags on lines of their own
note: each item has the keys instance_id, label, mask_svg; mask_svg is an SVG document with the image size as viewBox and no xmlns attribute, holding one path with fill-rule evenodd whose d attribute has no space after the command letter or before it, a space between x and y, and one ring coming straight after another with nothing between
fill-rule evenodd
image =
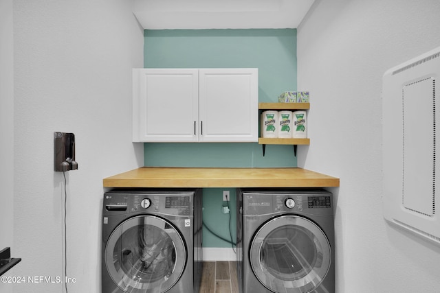
<instances>
[{"instance_id":1,"label":"round glass door of the left-hand front-loading washer","mask_svg":"<svg viewBox=\"0 0 440 293\"><path fill-rule=\"evenodd\" d=\"M186 265L186 246L170 222L153 215L130 218L115 228L105 247L111 279L124 292L166 292Z\"/></svg>"}]
</instances>

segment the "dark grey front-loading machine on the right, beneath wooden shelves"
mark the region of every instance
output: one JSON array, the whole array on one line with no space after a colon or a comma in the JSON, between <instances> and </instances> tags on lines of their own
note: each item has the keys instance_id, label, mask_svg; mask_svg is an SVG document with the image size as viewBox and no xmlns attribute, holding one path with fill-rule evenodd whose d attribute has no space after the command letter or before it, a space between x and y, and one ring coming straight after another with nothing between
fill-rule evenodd
<instances>
[{"instance_id":1,"label":"dark grey front-loading machine on the right, beneath wooden shelves","mask_svg":"<svg viewBox=\"0 0 440 293\"><path fill-rule=\"evenodd\" d=\"M239 189L241 292L334 293L332 194L324 189Z\"/></svg>"}]
</instances>

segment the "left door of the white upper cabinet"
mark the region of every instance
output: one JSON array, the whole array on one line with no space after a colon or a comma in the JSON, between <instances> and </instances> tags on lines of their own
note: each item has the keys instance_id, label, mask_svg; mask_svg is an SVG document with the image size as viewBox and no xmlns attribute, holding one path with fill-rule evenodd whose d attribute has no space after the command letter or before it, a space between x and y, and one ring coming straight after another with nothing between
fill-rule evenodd
<instances>
[{"instance_id":1,"label":"left door of the white upper cabinet","mask_svg":"<svg viewBox=\"0 0 440 293\"><path fill-rule=\"evenodd\" d=\"M197 141L197 69L133 69L133 141Z\"/></svg>"}]
</instances>

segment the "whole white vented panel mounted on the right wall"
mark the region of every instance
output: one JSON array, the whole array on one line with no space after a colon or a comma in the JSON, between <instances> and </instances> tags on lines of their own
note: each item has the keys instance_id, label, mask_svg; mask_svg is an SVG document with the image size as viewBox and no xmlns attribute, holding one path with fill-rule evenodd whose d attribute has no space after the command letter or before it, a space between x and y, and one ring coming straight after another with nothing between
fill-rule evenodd
<instances>
[{"instance_id":1,"label":"whole white vented panel mounted on the right wall","mask_svg":"<svg viewBox=\"0 0 440 293\"><path fill-rule=\"evenodd\" d=\"M382 93L384 218L437 244L439 74L440 47L386 71Z\"/></svg>"}]
</instances>

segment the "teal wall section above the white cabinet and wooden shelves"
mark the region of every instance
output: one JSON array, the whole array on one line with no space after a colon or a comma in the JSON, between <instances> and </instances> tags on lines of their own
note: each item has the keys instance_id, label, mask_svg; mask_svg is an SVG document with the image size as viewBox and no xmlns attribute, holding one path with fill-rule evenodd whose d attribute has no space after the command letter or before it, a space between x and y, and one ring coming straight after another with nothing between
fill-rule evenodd
<instances>
[{"instance_id":1,"label":"teal wall section above the white cabinet and wooden shelves","mask_svg":"<svg viewBox=\"0 0 440 293\"><path fill-rule=\"evenodd\" d=\"M259 69L259 102L296 90L296 30L145 30L145 68Z\"/></svg>"}]
</instances>

